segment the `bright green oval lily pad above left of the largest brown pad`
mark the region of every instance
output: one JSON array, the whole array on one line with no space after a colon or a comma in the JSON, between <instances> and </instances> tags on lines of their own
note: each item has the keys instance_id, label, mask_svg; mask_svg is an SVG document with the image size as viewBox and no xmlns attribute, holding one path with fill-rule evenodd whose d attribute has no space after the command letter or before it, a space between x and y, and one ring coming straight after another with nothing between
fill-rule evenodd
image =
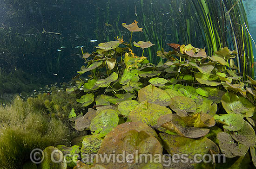
<instances>
[{"instance_id":1,"label":"bright green oval lily pad above left of the largest brown pad","mask_svg":"<svg viewBox=\"0 0 256 169\"><path fill-rule=\"evenodd\" d=\"M95 134L99 133L99 137L104 137L114 127L118 125L118 115L113 109L102 110L90 124L90 130Z\"/></svg>"}]
</instances>

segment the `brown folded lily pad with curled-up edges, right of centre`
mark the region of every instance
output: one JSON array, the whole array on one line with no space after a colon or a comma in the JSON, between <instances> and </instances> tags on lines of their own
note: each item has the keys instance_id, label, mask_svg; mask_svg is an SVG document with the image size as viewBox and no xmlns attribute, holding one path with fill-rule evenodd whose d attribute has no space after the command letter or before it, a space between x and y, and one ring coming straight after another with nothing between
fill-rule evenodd
<instances>
[{"instance_id":1,"label":"brown folded lily pad with curled-up edges, right of centre","mask_svg":"<svg viewBox=\"0 0 256 169\"><path fill-rule=\"evenodd\" d=\"M157 125L175 131L177 134L187 138L200 138L205 136L210 130L206 128L192 127L177 114L166 114L157 120Z\"/></svg>"}]
</instances>

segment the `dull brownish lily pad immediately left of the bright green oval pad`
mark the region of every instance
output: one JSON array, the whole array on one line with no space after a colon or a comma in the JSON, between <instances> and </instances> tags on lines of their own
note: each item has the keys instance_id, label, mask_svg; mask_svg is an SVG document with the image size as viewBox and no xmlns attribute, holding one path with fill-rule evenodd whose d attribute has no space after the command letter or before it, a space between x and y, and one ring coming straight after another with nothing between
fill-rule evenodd
<instances>
[{"instance_id":1,"label":"dull brownish lily pad immediately left of the bright green oval pad","mask_svg":"<svg viewBox=\"0 0 256 169\"><path fill-rule=\"evenodd\" d=\"M77 131L83 131L85 128L90 128L91 121L98 113L99 112L96 112L96 110L89 108L85 115L74 120L74 129Z\"/></svg>"}]
</instances>

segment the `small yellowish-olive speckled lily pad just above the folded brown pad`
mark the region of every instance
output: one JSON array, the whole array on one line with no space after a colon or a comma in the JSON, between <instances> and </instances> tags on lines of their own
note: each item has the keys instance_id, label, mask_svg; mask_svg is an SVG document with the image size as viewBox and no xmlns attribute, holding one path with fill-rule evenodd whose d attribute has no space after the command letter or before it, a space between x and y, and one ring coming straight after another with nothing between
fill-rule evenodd
<instances>
[{"instance_id":1,"label":"small yellowish-olive speckled lily pad just above the folded brown pad","mask_svg":"<svg viewBox=\"0 0 256 169\"><path fill-rule=\"evenodd\" d=\"M195 101L189 99L186 96L175 96L170 100L170 108L177 112L179 110L185 110L186 112L196 112Z\"/></svg>"}]
</instances>

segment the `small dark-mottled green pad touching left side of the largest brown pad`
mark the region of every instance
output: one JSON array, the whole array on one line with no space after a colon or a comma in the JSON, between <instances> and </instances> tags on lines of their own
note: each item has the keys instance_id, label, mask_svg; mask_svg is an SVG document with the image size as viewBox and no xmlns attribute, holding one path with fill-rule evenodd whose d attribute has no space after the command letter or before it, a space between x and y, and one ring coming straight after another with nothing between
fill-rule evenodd
<instances>
[{"instance_id":1,"label":"small dark-mottled green pad touching left side of the largest brown pad","mask_svg":"<svg viewBox=\"0 0 256 169\"><path fill-rule=\"evenodd\" d=\"M89 134L84 137L81 147L83 163L92 164L91 157L100 150L102 140L98 134Z\"/></svg>"}]
</instances>

